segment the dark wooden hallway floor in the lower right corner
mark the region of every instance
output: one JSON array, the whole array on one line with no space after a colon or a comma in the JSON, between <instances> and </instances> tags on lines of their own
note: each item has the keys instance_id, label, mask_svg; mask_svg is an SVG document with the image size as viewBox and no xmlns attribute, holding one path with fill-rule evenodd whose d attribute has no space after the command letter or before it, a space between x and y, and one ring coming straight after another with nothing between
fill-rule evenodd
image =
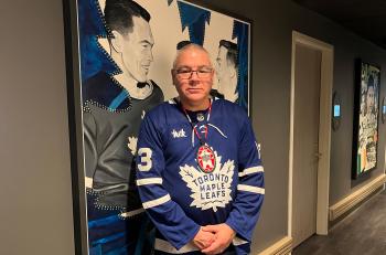
<instances>
[{"instance_id":1,"label":"dark wooden hallway floor in the lower right corner","mask_svg":"<svg viewBox=\"0 0 386 255\"><path fill-rule=\"evenodd\" d=\"M386 254L386 192L375 195L335 225L328 236L314 235L292 255Z\"/></svg>"}]
</instances>

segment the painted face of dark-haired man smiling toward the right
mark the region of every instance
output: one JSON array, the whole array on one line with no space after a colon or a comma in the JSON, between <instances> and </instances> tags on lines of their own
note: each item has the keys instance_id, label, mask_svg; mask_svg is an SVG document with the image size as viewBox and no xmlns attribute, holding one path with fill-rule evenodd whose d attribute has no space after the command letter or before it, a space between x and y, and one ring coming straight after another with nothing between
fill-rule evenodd
<instances>
[{"instance_id":1,"label":"painted face of dark-haired man smiling toward the right","mask_svg":"<svg viewBox=\"0 0 386 255\"><path fill-rule=\"evenodd\" d=\"M121 59L124 73L138 82L146 82L153 61L154 44L149 23L140 17L132 17L132 32L122 36Z\"/></svg>"}]
</instances>

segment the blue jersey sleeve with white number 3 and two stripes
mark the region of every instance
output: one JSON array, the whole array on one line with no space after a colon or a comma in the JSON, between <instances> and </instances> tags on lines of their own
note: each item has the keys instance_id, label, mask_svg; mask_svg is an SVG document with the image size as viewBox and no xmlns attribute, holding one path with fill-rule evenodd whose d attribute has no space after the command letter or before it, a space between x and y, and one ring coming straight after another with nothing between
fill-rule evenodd
<instances>
[{"instance_id":1,"label":"blue jersey sleeve with white number 3 and two stripes","mask_svg":"<svg viewBox=\"0 0 386 255\"><path fill-rule=\"evenodd\" d=\"M165 168L162 135L146 115L139 137L137 185L142 206L160 233L176 248L187 244L200 230L162 185Z\"/></svg>"}]
</instances>

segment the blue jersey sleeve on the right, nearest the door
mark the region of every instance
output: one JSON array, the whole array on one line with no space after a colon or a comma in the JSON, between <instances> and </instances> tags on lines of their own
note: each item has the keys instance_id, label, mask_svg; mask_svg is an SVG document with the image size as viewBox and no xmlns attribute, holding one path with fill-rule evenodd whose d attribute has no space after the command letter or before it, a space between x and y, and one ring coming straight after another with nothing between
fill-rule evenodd
<instances>
[{"instance_id":1,"label":"blue jersey sleeve on the right, nearest the door","mask_svg":"<svg viewBox=\"0 0 386 255\"><path fill-rule=\"evenodd\" d=\"M247 116L238 146L238 184L226 224L248 242L260 214L264 200L264 168L251 124Z\"/></svg>"}]
</instances>

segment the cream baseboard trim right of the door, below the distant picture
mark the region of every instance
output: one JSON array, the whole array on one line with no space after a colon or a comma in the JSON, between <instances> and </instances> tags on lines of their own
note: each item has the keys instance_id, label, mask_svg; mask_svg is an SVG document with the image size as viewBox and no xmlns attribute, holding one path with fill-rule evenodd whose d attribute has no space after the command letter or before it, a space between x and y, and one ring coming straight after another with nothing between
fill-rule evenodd
<instances>
[{"instance_id":1,"label":"cream baseboard trim right of the door, below the distant picture","mask_svg":"<svg viewBox=\"0 0 386 255\"><path fill-rule=\"evenodd\" d=\"M386 174L382 174L375 178L373 181L368 182L363 188L357 191L351 193L343 200L339 201L334 205L330 206L330 221L334 221L344 213L349 212L356 204L365 200L368 195L371 195L374 191L379 189L386 182Z\"/></svg>"}]
</instances>

